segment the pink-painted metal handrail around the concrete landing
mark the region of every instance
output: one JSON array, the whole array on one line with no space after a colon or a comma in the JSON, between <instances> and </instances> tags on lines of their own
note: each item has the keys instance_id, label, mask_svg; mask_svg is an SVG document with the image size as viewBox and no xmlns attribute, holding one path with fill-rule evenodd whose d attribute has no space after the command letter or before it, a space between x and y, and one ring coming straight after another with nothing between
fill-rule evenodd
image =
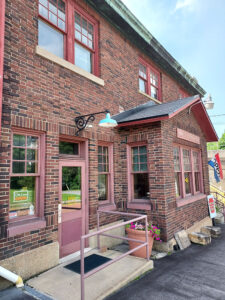
<instances>
[{"instance_id":1,"label":"pink-painted metal handrail around the concrete landing","mask_svg":"<svg viewBox=\"0 0 225 300\"><path fill-rule=\"evenodd\" d=\"M120 215L120 216L131 216L131 217L135 217L132 220L129 221L125 221L122 222L120 224L116 224L116 225L112 225L108 228L104 228L104 229L99 229L100 226L100 221L99 221L99 214L100 213L106 213L106 214L114 214L114 215ZM121 236L116 236L116 235L110 235L110 234L105 234L106 231L108 230L112 230L127 224L130 224L132 222L137 222L140 220L145 220L145 242L140 241L140 240L135 240L135 239L131 239L131 238L127 238L127 237L121 237ZM137 242L140 243L141 245L133 248L132 250L127 251L126 253L123 253L122 255L113 258L112 260L104 263L103 265L87 272L86 274L84 273L84 245L85 245L85 239L88 239L90 237L93 237L97 235L97 244L98 244L98 249L100 249L100 235L103 236L108 236L108 237L112 237L112 238L117 238L117 239L122 239L122 240L128 240L128 241L133 241L133 242ZM88 278L89 276L95 274L96 272L104 269L105 267L111 265L114 262L117 262L118 260L124 258L125 256L133 253L136 250L141 249L142 247L146 247L146 259L147 261L149 261L149 245L148 245L148 220L147 220L147 215L141 215L141 214L129 214L129 213L123 213L123 212L118 212L118 211L103 211L103 210L98 210L97 211L97 231L86 234L86 235L82 235L81 236L81 240L80 240L80 274L81 274L81 300L85 300L85 291L84 291L84 279Z\"/></svg>"}]
</instances>

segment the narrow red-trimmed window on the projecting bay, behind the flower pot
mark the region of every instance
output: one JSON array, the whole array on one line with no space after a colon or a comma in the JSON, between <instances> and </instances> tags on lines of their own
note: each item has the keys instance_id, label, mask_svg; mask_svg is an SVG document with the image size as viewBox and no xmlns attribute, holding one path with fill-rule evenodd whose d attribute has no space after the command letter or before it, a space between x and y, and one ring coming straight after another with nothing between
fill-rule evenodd
<instances>
[{"instance_id":1,"label":"narrow red-trimmed window on the projecting bay, behind the flower pot","mask_svg":"<svg viewBox=\"0 0 225 300\"><path fill-rule=\"evenodd\" d=\"M131 150L130 186L132 200L149 200L149 171L147 146L137 145Z\"/></svg>"}]
</instances>

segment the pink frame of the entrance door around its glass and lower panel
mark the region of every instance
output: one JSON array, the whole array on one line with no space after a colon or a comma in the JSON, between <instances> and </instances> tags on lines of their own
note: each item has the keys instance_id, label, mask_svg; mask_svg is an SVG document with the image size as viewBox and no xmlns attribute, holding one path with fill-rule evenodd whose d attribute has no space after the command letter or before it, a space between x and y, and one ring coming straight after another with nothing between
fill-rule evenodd
<instances>
[{"instance_id":1,"label":"pink frame of the entrance door around its glass and lower panel","mask_svg":"<svg viewBox=\"0 0 225 300\"><path fill-rule=\"evenodd\" d=\"M59 245L60 245L60 257L64 256L65 254L70 254L68 247L62 248L62 223L69 221L69 220L76 220L81 218L81 235L86 233L86 166L85 161L80 160L61 160L59 161L59 199L61 202L62 199L62 189L61 189L61 182L62 182L62 167L81 167L81 199L82 199L82 209L81 210L74 210L71 212L67 212L66 214L61 215L61 224L59 224ZM79 250L80 248L80 240L75 241L73 246L76 248L75 251Z\"/></svg>"}]
</instances>

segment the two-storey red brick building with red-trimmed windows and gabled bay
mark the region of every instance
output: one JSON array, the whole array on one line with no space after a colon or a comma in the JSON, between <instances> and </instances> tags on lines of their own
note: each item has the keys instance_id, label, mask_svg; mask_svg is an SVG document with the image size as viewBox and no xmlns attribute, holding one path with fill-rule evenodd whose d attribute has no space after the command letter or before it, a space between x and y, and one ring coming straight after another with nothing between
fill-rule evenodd
<instances>
[{"instance_id":1,"label":"two-storey red brick building with red-trimmed windows and gabled bay","mask_svg":"<svg viewBox=\"0 0 225 300\"><path fill-rule=\"evenodd\" d=\"M2 0L0 33L3 266L56 265L99 207L147 213L165 245L207 219L205 91L122 2ZM116 128L76 134L106 109Z\"/></svg>"}]
</instances>

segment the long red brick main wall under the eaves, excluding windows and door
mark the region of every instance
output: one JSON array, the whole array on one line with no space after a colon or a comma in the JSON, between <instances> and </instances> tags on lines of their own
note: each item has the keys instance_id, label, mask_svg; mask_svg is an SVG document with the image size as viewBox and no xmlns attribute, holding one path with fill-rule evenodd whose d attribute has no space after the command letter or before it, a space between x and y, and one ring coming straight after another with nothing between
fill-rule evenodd
<instances>
[{"instance_id":1,"label":"long red brick main wall under the eaves, excluding windows and door","mask_svg":"<svg viewBox=\"0 0 225 300\"><path fill-rule=\"evenodd\" d=\"M99 86L35 54L38 44L38 1L6 1L6 38L4 61L3 122L0 141L0 259L28 251L57 240L58 206L58 143L59 134L74 135L74 117L105 108L118 113L119 105L129 109L149 99L138 92L138 57L140 51L118 30L81 0L76 1L99 21L99 68L105 86ZM142 55L146 60L145 55ZM150 60L148 60L150 63ZM179 97L179 83L162 74L163 100ZM94 127L82 135L89 139L89 224L96 225L97 203L97 141L113 140L113 132ZM16 237L7 237L10 135L12 126L46 132L45 217L47 227ZM151 218L164 228L166 238L165 176L157 164L163 157L162 130L159 124L145 126L152 157L151 202L158 211ZM127 197L125 138L138 128L115 134L115 201L123 207ZM101 133L105 133L102 135ZM153 142L154 139L154 142ZM155 158L159 161L156 162ZM122 179L122 180L121 180ZM206 178L207 180L207 178ZM121 184L123 182L123 184ZM158 185L160 182L161 186ZM172 195L170 195L172 199ZM140 211L139 211L140 212ZM159 217L160 216L160 217ZM114 218L108 219L108 221ZM103 220L104 221L104 220Z\"/></svg>"}]
</instances>

